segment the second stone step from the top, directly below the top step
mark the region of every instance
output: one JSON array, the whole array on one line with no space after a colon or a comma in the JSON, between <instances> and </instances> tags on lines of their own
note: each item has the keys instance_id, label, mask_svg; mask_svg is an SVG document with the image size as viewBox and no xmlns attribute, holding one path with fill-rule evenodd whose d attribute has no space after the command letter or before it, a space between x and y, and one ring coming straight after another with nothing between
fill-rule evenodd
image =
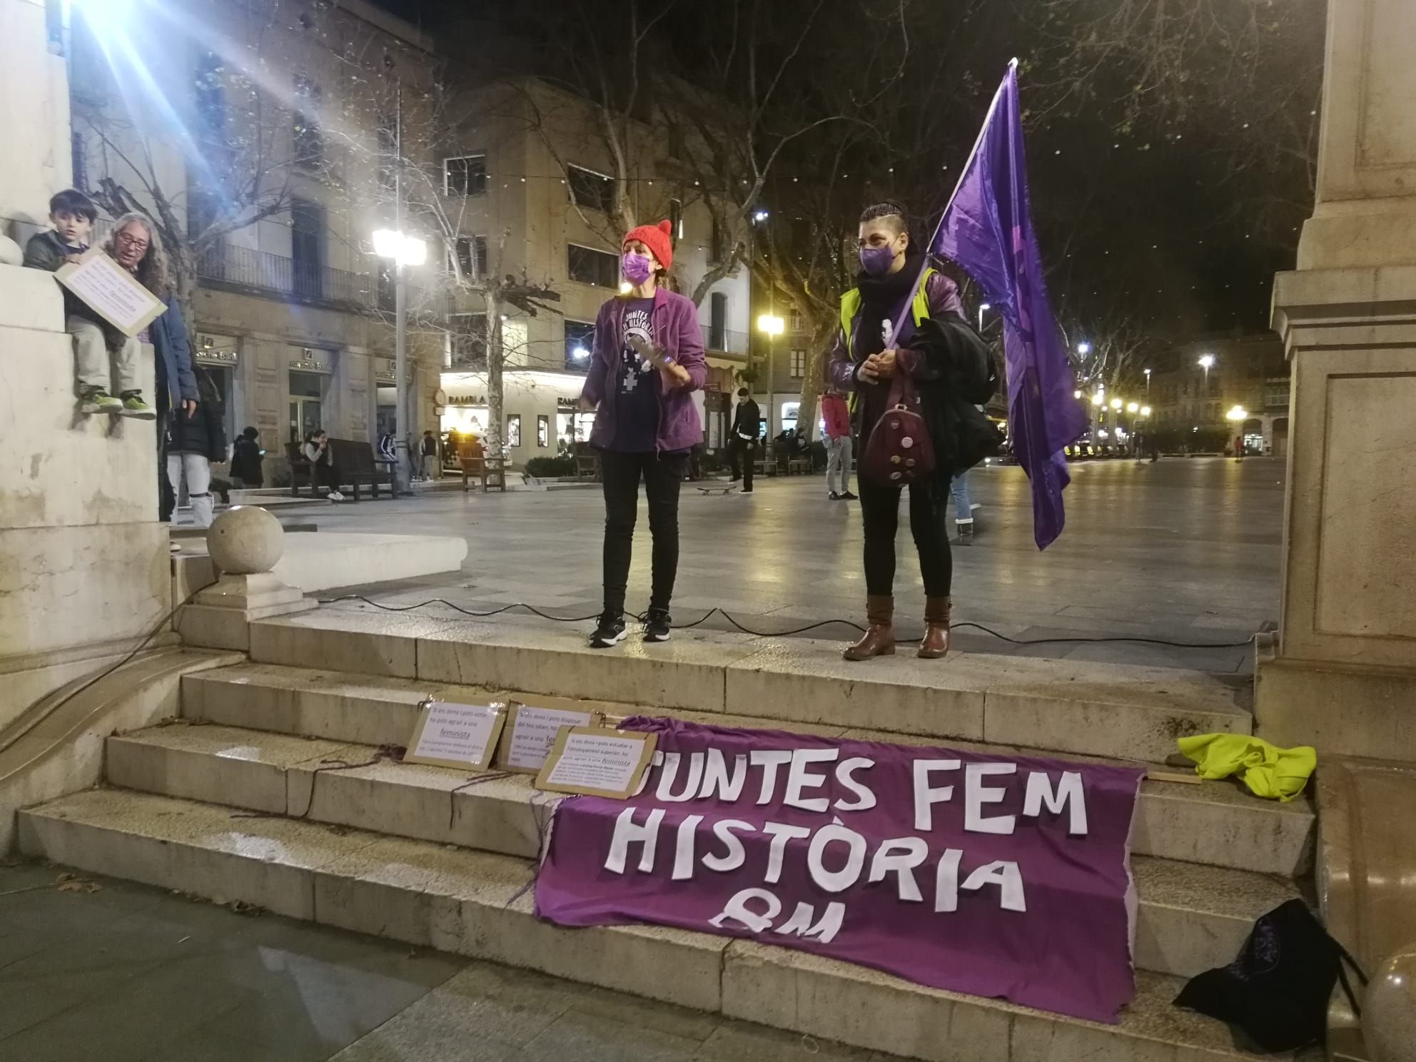
<instances>
[{"instance_id":1,"label":"second stone step from the top, directly below the top step","mask_svg":"<svg viewBox=\"0 0 1416 1062\"><path fill-rule=\"evenodd\" d=\"M418 704L426 697L484 702L508 695L504 690L248 663L188 675L183 685L183 715L202 722L321 738L336 743L404 745L413 732ZM654 711L613 702L590 707L615 715ZM767 726L862 741L925 741L879 731L762 716L684 709L667 714L691 722ZM947 743L956 748L980 748L976 742ZM1055 755L1032 748L991 748L1018 755ZM1078 759L1075 755L1072 758ZM327 780L330 779L321 779ZM1133 850L1141 855L1296 878L1310 867L1313 834L1314 816L1307 800L1289 804L1259 800L1229 782L1184 784L1147 780L1141 784Z\"/></svg>"}]
</instances>

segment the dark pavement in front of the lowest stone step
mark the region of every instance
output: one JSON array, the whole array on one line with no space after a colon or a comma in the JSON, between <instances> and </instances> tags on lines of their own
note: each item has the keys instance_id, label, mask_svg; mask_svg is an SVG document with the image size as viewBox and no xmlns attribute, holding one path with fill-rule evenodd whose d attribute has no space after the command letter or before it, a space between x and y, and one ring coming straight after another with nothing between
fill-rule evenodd
<instances>
[{"instance_id":1,"label":"dark pavement in front of the lowest stone step","mask_svg":"<svg viewBox=\"0 0 1416 1062\"><path fill-rule=\"evenodd\" d=\"M23 862L0 865L0 1058L889 1062L893 1056Z\"/></svg>"}]
</instances>

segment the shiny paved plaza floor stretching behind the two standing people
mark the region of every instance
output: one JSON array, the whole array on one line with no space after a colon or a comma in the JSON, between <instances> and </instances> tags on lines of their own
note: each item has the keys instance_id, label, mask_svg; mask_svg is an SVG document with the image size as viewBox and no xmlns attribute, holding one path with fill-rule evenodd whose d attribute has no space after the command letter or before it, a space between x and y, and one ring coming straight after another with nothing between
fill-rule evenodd
<instances>
[{"instance_id":1,"label":"shiny paved plaza floor stretching behind the two standing people","mask_svg":"<svg viewBox=\"0 0 1416 1062\"><path fill-rule=\"evenodd\" d=\"M1027 477L980 467L970 489L978 534L954 549L954 620L1007 637L1140 637L1188 644L1245 643L1279 609L1279 545L1284 466L1274 459L1110 460L1076 464L1066 491L1068 524L1045 552L1032 541ZM896 622L918 633L923 590L902 506ZM290 520L329 531L463 535L457 575L365 590L385 603L440 596L472 610L527 602L559 616L600 607L598 487L463 494L426 491L399 501L282 507ZM684 484L683 558L674 619L690 623L719 606L759 632L860 620L865 583L855 504L828 501L816 477L759 479L752 496L705 496ZM644 503L636 532L629 607L649 599ZM729 629L721 616L705 626ZM589 624L588 627L589 629ZM845 626L811 637L854 636ZM969 651L1025 653L1243 674L1249 649L1178 649L1136 641L1014 646L971 627Z\"/></svg>"}]
</instances>

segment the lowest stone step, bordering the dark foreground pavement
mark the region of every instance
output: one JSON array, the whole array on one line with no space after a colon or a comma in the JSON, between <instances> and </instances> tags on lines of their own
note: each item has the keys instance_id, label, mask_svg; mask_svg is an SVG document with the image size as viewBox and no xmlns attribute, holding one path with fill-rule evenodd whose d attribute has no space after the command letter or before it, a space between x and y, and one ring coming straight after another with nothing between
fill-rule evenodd
<instances>
[{"instance_id":1,"label":"lowest stone step, bordering the dark foreground pavement","mask_svg":"<svg viewBox=\"0 0 1416 1062\"><path fill-rule=\"evenodd\" d=\"M426 841L123 790L20 817L25 852L217 901L245 901L415 946L530 967L926 1062L1257 1058L1175 1010L1180 980L1137 974L1117 1025L925 988L804 952L661 926L561 929L534 915L532 864ZM1273 1056L1266 1056L1273 1058Z\"/></svg>"}]
</instances>

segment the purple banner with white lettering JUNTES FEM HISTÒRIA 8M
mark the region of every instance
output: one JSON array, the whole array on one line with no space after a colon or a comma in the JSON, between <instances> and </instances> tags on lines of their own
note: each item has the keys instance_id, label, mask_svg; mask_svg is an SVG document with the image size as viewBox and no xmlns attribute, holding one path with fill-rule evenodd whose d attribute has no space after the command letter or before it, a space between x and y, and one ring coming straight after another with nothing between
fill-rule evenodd
<instances>
[{"instance_id":1,"label":"purple banner with white lettering JUNTES FEM HIST\u00d2RIA 8M","mask_svg":"<svg viewBox=\"0 0 1416 1062\"><path fill-rule=\"evenodd\" d=\"M555 810L537 913L752 937L1114 1022L1144 770L633 718L629 800Z\"/></svg>"}]
</instances>

